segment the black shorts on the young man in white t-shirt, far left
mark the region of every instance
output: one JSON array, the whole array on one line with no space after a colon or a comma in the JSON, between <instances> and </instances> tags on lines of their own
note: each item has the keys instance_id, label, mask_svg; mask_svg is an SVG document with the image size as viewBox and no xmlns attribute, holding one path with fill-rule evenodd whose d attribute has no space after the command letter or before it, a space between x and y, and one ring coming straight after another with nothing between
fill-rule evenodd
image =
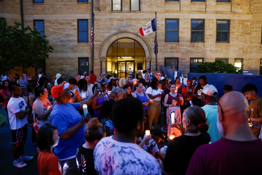
<instances>
[{"instance_id":1,"label":"black shorts on the young man in white t-shirt, far left","mask_svg":"<svg viewBox=\"0 0 262 175\"><path fill-rule=\"evenodd\" d=\"M13 138L13 145L14 146L24 146L27 136L27 124L19 129L13 129L12 138Z\"/></svg>"}]
</instances>

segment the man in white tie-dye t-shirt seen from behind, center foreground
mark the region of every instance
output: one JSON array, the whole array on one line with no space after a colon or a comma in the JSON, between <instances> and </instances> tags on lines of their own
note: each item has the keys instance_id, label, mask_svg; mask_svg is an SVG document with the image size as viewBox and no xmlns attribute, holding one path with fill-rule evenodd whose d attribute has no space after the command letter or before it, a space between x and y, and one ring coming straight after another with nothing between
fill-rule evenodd
<instances>
[{"instance_id":1,"label":"man in white tie-dye t-shirt seen from behind, center foreground","mask_svg":"<svg viewBox=\"0 0 262 175\"><path fill-rule=\"evenodd\" d=\"M115 102L112 121L116 134L101 139L94 150L98 174L161 174L157 159L135 144L136 136L144 130L144 120L139 99L124 98Z\"/></svg>"}]
</instances>

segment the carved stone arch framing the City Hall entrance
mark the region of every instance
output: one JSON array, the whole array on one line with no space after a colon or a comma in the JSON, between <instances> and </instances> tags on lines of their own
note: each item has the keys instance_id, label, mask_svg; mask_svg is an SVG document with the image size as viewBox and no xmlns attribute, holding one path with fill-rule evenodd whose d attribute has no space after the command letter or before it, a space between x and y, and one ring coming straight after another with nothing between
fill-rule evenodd
<instances>
[{"instance_id":1,"label":"carved stone arch framing the City Hall entrance","mask_svg":"<svg viewBox=\"0 0 262 175\"><path fill-rule=\"evenodd\" d=\"M101 72L106 72L105 69L106 69L106 60L107 60L107 50L109 49L111 44L114 43L114 41L121 38L134 39L143 47L145 52L146 68L150 68L150 61L152 57L151 57L151 50L148 43L137 34L128 31L120 31L110 35L101 46L100 53L99 53L99 58L101 61L101 69L102 69Z\"/></svg>"}]
</instances>

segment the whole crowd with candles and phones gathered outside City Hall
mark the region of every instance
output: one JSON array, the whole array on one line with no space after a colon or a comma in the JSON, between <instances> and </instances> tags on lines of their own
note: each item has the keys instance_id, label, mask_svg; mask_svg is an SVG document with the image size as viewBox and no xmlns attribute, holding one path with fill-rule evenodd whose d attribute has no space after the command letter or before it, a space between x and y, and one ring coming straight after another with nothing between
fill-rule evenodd
<instances>
[{"instance_id":1,"label":"whole crowd with candles and phones gathered outside City Hall","mask_svg":"<svg viewBox=\"0 0 262 175\"><path fill-rule=\"evenodd\" d=\"M13 166L37 159L39 175L262 174L261 87L225 84L218 95L204 75L187 85L150 69L100 76L2 73ZM26 142L38 157L24 152Z\"/></svg>"}]
</instances>

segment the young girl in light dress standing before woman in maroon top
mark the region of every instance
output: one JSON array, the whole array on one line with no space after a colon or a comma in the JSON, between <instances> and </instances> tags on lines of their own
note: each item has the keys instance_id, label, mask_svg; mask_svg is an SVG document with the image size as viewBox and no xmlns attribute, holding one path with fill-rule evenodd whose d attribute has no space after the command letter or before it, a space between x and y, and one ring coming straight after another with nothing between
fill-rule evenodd
<instances>
[{"instance_id":1,"label":"young girl in light dress standing before woman in maroon top","mask_svg":"<svg viewBox=\"0 0 262 175\"><path fill-rule=\"evenodd\" d=\"M176 97L172 98L172 104L168 107L167 112L167 136L174 135L176 137L180 136L178 130L175 127L171 127L171 113L174 111L175 118L181 123L181 110L178 104L178 99Z\"/></svg>"}]
</instances>

